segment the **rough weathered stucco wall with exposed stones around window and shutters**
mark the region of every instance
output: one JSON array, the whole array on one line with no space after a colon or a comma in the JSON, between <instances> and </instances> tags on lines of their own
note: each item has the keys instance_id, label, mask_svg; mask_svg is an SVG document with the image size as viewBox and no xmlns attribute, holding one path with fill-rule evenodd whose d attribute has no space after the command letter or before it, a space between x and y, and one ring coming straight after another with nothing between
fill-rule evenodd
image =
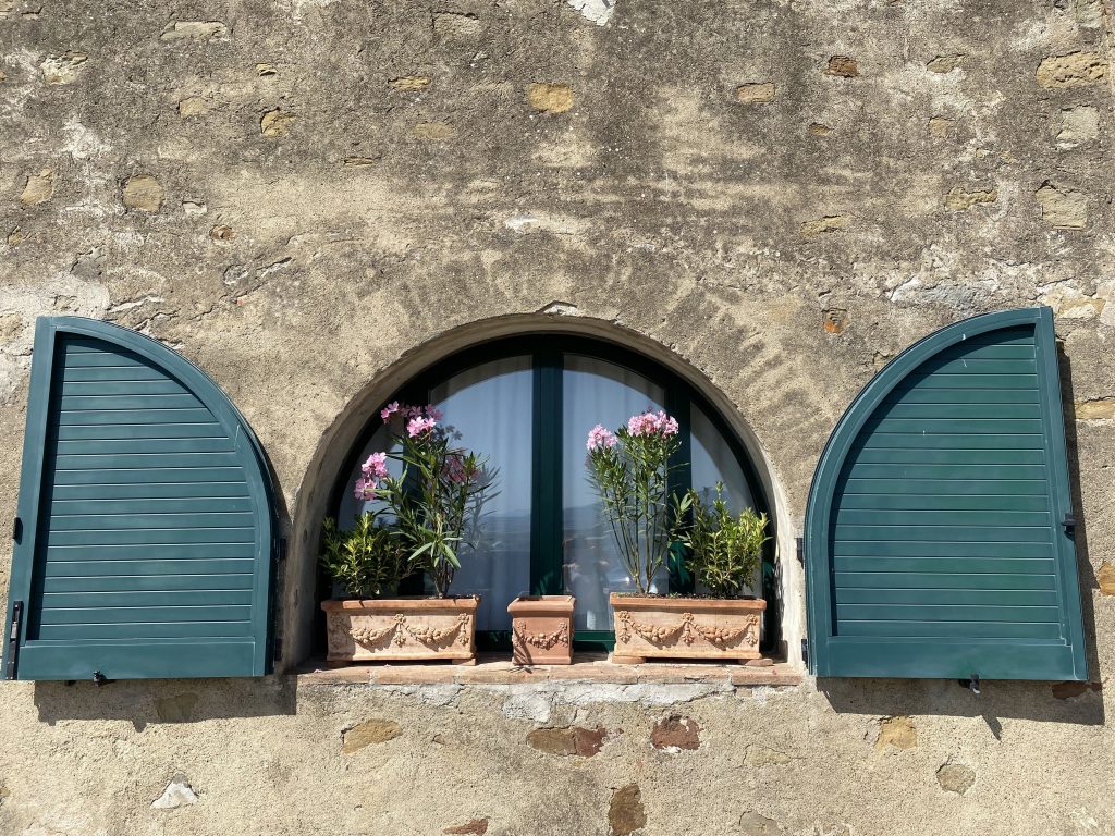
<instances>
[{"instance_id":1,"label":"rough weathered stucco wall with exposed stones around window and shutters","mask_svg":"<svg viewBox=\"0 0 1115 836\"><path fill-rule=\"evenodd\" d=\"M1115 830L1115 600L1096 580L1115 561L1112 11L0 0L0 517L35 317L149 333L217 380L272 459L290 661L331 468L425 346L513 315L657 344L735 406L792 536L828 431L883 362L1047 303L1079 416L1095 680L979 698L8 683L0 833ZM669 717L698 748L651 745ZM343 752L368 722L392 732ZM605 729L600 750L527 743L571 726Z\"/></svg>"}]
</instances>

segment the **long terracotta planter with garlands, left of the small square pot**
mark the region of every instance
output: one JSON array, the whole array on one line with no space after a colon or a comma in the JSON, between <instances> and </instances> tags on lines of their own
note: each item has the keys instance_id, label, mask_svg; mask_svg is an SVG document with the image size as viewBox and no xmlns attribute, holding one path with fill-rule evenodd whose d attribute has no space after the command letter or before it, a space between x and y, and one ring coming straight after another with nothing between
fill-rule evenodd
<instances>
[{"instance_id":1,"label":"long terracotta planter with garlands, left of the small square pot","mask_svg":"<svg viewBox=\"0 0 1115 836\"><path fill-rule=\"evenodd\" d=\"M331 667L449 659L476 664L476 607L468 597L322 601Z\"/></svg>"}]
</instances>

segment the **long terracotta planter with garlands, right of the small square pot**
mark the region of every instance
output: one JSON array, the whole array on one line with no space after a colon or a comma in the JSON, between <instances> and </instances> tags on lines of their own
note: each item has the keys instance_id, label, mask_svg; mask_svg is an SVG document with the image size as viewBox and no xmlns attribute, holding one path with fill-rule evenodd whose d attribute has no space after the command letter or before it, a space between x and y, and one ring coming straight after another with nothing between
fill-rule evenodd
<instances>
[{"instance_id":1,"label":"long terracotta planter with garlands, right of the small square pot","mask_svg":"<svg viewBox=\"0 0 1115 836\"><path fill-rule=\"evenodd\" d=\"M639 664L648 659L759 658L759 631L766 601L746 599L659 597L611 593L615 650L612 661Z\"/></svg>"}]
</instances>

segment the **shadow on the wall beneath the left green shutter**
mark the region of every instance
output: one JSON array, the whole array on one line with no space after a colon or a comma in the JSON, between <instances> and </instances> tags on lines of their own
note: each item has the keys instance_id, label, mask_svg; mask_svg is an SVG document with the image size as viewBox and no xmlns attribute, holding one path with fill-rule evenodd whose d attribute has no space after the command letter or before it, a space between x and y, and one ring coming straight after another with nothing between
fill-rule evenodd
<instances>
[{"instance_id":1,"label":"shadow on the wall beneath the left green shutter","mask_svg":"<svg viewBox=\"0 0 1115 836\"><path fill-rule=\"evenodd\" d=\"M128 720L148 725L293 715L295 677L162 679L107 682L36 682L39 720Z\"/></svg>"}]
</instances>

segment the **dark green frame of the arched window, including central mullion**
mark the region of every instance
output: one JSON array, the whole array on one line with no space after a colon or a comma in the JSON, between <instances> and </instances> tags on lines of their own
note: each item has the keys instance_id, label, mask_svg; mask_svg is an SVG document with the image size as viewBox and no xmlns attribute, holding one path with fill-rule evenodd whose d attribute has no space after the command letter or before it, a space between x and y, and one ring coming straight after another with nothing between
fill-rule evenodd
<instances>
[{"instance_id":1,"label":"dark green frame of the arched window, including central mullion","mask_svg":"<svg viewBox=\"0 0 1115 836\"><path fill-rule=\"evenodd\" d=\"M527 356L532 369L532 497L531 497L531 593L559 594L563 592L563 455L562 448L562 400L563 400L563 358L566 354L578 354L615 363L630 371L642 375L666 392L665 408L678 419L681 448L677 454L678 463L690 459L690 426L689 407L696 405L712 422L720 436L727 440L729 448L744 473L748 489L752 493L756 511L766 513L773 521L772 506L763 488L763 483L752 464L746 449L735 432L724 420L719 411L688 381L670 371L662 364L626 347L605 340L574 334L531 334L511 337L481 343L444 360L434 363L419 372L414 379L395 391L386 400L404 402L426 402L430 390L443 381L473 367L493 360L508 357ZM452 416L450 416L452 420ZM341 497L351 489L349 475L356 469L361 451L369 444L371 436L381 426L378 415L370 415L363 430L352 445L341 468L338 480L330 496L329 507L336 516L339 513ZM685 490L690 486L688 466L679 467L673 480L675 490ZM772 523L773 526L773 523ZM772 529L772 535L774 535ZM766 615L763 649L770 652L778 648L780 641L779 607L777 605L777 570L775 565L776 544L774 538L768 542L763 556L763 596L769 602ZM415 580L411 579L411 583ZM330 581L324 574L319 574L319 599L327 597ZM678 592L691 591L691 584L671 571L670 589ZM403 592L420 594L420 579L416 585L404 589ZM324 625L319 618L316 629L319 643L323 642ZM615 635L612 631L575 632L574 647L579 650L610 650ZM511 648L511 636L505 632L488 631L477 633L477 644L484 650L506 650Z\"/></svg>"}]
</instances>

